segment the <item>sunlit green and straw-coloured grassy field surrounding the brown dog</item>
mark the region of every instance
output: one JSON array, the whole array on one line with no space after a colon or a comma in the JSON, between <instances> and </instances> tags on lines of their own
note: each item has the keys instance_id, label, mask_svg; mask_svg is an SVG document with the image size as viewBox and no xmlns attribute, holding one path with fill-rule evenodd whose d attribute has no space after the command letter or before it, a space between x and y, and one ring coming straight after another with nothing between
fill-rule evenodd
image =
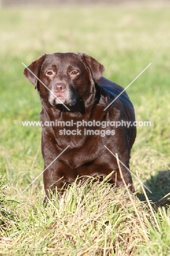
<instances>
[{"instance_id":1,"label":"sunlit green and straw-coloured grassy field surrounding the brown dog","mask_svg":"<svg viewBox=\"0 0 170 256\"><path fill-rule=\"evenodd\" d=\"M170 211L153 211L170 192L170 23L168 5L0 10L0 254L170 255ZM104 77L129 85L137 121L130 167L137 197L106 183L75 184L46 208L37 91L23 76L44 53L77 51L105 66ZM143 203L142 201L147 201Z\"/></svg>"}]
</instances>

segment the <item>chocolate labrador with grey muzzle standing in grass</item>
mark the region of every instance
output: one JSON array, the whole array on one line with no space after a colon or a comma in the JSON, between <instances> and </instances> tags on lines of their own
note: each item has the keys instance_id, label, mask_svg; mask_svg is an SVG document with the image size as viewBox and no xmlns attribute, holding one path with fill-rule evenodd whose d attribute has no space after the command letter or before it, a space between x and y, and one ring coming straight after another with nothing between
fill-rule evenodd
<instances>
[{"instance_id":1,"label":"chocolate labrador with grey muzzle standing in grass","mask_svg":"<svg viewBox=\"0 0 170 256\"><path fill-rule=\"evenodd\" d=\"M109 182L123 186L111 152L118 154L124 181L134 191L128 169L136 138L135 112L123 88L102 77L103 73L104 66L84 53L44 54L25 68L43 106L41 146L47 197L50 190L62 193L77 177L101 180L111 172Z\"/></svg>"}]
</instances>

